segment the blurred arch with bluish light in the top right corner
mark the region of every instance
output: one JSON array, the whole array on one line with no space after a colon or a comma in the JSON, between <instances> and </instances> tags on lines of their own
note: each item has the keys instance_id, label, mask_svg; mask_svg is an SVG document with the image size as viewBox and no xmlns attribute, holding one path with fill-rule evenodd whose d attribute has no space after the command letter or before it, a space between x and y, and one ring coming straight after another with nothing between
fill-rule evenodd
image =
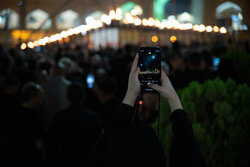
<instances>
[{"instance_id":1,"label":"blurred arch with bluish light in the top right corner","mask_svg":"<svg viewBox=\"0 0 250 167\"><path fill-rule=\"evenodd\" d=\"M234 2L224 2L216 8L216 22L219 26L232 27L233 30L243 28L242 9Z\"/></svg>"}]
</instances>

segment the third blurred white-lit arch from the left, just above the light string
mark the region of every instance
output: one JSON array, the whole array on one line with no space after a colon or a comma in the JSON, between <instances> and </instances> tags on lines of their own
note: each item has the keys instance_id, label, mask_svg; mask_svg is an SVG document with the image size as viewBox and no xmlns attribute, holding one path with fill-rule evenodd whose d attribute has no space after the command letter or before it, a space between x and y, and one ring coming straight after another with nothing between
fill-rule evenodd
<instances>
[{"instance_id":1,"label":"third blurred white-lit arch from the left, just above the light string","mask_svg":"<svg viewBox=\"0 0 250 167\"><path fill-rule=\"evenodd\" d=\"M56 16L56 27L59 30L79 26L81 23L79 14L71 9L65 10Z\"/></svg>"}]
</instances>

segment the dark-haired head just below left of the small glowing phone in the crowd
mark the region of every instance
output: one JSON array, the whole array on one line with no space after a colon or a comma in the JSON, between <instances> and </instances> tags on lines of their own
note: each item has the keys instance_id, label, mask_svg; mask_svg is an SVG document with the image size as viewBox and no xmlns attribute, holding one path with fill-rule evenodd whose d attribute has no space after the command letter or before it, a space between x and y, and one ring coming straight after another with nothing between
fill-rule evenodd
<instances>
[{"instance_id":1,"label":"dark-haired head just below left of the small glowing phone in the crowd","mask_svg":"<svg viewBox=\"0 0 250 167\"><path fill-rule=\"evenodd\" d=\"M67 97L71 105L81 105L85 100L85 89L81 83L72 83L68 86Z\"/></svg>"}]
</instances>

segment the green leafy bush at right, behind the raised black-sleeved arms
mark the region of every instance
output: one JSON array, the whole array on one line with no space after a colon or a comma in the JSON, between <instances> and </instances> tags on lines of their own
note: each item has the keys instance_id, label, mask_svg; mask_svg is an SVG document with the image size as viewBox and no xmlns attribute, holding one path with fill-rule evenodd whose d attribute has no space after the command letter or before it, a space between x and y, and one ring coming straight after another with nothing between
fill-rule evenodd
<instances>
[{"instance_id":1,"label":"green leafy bush at right, behind the raised black-sleeved arms","mask_svg":"<svg viewBox=\"0 0 250 167\"><path fill-rule=\"evenodd\" d=\"M232 79L192 82L178 92L209 167L250 166L250 88ZM169 160L170 109L161 100L160 140Z\"/></svg>"}]
</instances>

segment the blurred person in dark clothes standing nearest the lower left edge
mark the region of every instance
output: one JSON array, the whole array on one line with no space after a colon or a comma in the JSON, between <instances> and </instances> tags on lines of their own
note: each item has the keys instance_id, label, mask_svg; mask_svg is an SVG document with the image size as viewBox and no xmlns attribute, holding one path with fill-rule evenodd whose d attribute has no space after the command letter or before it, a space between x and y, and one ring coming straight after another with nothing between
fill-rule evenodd
<instances>
[{"instance_id":1,"label":"blurred person in dark clothes standing nearest the lower left edge","mask_svg":"<svg viewBox=\"0 0 250 167\"><path fill-rule=\"evenodd\" d=\"M43 99L39 84L27 83L21 91L21 105L6 120L7 142L4 166L42 166L43 123L38 109Z\"/></svg>"}]
</instances>

